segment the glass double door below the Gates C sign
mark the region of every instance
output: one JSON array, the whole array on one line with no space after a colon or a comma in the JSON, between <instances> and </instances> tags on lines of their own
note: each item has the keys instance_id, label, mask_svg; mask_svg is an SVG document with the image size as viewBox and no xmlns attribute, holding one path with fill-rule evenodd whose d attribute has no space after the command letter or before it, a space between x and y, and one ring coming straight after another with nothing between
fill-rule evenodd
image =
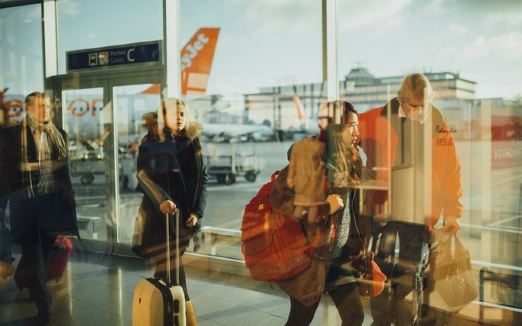
<instances>
[{"instance_id":1,"label":"glass double door below the Gates C sign","mask_svg":"<svg viewBox=\"0 0 522 326\"><path fill-rule=\"evenodd\" d=\"M113 76L114 75L114 76ZM69 134L81 246L132 254L138 145L146 112L155 111L161 73L59 76L53 79L55 120Z\"/></svg>"}]
</instances>

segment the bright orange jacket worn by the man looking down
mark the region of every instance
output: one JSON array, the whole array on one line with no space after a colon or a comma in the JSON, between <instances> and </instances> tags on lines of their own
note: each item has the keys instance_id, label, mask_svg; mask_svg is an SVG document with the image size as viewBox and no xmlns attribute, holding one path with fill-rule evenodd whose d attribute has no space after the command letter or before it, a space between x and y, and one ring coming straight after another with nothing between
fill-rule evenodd
<instances>
[{"instance_id":1,"label":"bright orange jacket worn by the man looking down","mask_svg":"<svg viewBox=\"0 0 522 326\"><path fill-rule=\"evenodd\" d=\"M381 181L388 181L388 165L395 165L399 141L393 124L387 119L388 109L391 110L391 115L398 115L399 102L396 98L385 106L359 114L359 146L366 154L367 170L380 168L376 169L374 177ZM462 204L459 201L462 185L460 160L453 136L438 109L432 106L429 114L432 115L432 119L428 121L433 121L432 209L428 221L431 227L438 222L441 214L444 217L462 216ZM386 191L372 191L368 199L370 207L382 207L387 202L387 196ZM374 214L378 213L379 211L374 211Z\"/></svg>"}]
</instances>

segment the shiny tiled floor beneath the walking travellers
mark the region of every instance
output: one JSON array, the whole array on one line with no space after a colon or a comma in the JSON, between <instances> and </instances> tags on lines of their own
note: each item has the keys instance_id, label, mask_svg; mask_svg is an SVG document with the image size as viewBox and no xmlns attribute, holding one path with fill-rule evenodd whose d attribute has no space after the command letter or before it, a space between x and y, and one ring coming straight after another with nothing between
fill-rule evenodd
<instances>
[{"instance_id":1,"label":"shiny tiled floor beneath the walking travellers","mask_svg":"<svg viewBox=\"0 0 522 326\"><path fill-rule=\"evenodd\" d=\"M15 255L17 260L19 255ZM134 287L152 271L143 260L73 252L60 281L50 282L52 325L131 325ZM187 268L189 294L200 326L283 325L289 300L275 286L248 277ZM0 281L0 325L35 325L36 308L27 290ZM364 299L366 311L367 300ZM364 325L371 324L366 315ZM454 319L452 325L477 325ZM312 325L340 325L335 306L323 296Z\"/></svg>"}]
</instances>

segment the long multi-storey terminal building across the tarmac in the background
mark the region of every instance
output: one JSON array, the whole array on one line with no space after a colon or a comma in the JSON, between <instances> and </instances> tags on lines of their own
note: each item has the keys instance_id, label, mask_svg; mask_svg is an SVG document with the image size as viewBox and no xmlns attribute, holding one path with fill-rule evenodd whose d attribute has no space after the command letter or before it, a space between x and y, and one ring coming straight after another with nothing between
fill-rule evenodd
<instances>
[{"instance_id":1,"label":"long multi-storey terminal building across the tarmac in the background","mask_svg":"<svg viewBox=\"0 0 522 326\"><path fill-rule=\"evenodd\" d=\"M424 75L431 82L436 100L439 102L476 98L476 82L463 79L458 73L424 72ZM382 106L395 97L404 77L375 77L367 68L352 68L339 82L339 95L340 98L353 103L359 112L364 112ZM325 99L325 83L321 82L260 87L258 92L245 95L242 120L244 123L251 123L253 119L250 116L262 117L263 121L269 121L274 129L286 132L292 138L292 132L310 128L317 118L319 106ZM296 104L296 101L300 105ZM256 122L262 121L258 118Z\"/></svg>"}]
</instances>

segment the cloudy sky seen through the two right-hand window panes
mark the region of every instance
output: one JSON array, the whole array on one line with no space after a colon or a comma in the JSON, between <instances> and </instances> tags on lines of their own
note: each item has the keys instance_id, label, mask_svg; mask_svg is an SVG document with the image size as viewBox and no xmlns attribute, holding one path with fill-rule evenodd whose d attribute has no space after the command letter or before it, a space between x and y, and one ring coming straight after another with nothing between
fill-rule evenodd
<instances>
[{"instance_id":1,"label":"cloudy sky seen through the two right-hand window panes","mask_svg":"<svg viewBox=\"0 0 522 326\"><path fill-rule=\"evenodd\" d=\"M450 71L477 82L478 98L522 93L522 1L338 0L339 78ZM182 35L222 28L210 86L322 80L321 1L182 0ZM236 17L231 19L230 17Z\"/></svg>"}]
</instances>

